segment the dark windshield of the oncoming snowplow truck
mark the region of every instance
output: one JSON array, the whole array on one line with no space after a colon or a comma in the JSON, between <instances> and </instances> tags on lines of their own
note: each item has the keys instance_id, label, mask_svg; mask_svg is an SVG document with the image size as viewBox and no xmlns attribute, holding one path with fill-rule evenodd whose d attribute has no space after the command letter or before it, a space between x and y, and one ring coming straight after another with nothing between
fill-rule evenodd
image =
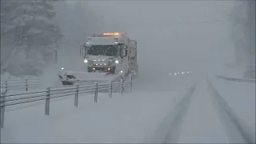
<instances>
[{"instance_id":1,"label":"dark windshield of the oncoming snowplow truck","mask_svg":"<svg viewBox=\"0 0 256 144\"><path fill-rule=\"evenodd\" d=\"M116 57L118 54L118 47L115 45L94 45L90 46L87 54Z\"/></svg>"}]
</instances>

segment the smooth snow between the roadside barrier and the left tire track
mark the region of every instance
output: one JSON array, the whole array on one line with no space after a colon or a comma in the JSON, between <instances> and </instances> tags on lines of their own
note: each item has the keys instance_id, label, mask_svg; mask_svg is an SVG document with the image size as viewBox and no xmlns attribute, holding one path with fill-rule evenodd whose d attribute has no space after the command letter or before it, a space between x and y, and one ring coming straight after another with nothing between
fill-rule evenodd
<instances>
[{"instance_id":1,"label":"smooth snow between the roadside barrier and the left tire track","mask_svg":"<svg viewBox=\"0 0 256 144\"><path fill-rule=\"evenodd\" d=\"M143 142L169 111L174 93L87 95L6 113L1 141L6 142ZM8 110L8 109L7 109ZM18 119L18 121L17 121Z\"/></svg>"}]
</instances>

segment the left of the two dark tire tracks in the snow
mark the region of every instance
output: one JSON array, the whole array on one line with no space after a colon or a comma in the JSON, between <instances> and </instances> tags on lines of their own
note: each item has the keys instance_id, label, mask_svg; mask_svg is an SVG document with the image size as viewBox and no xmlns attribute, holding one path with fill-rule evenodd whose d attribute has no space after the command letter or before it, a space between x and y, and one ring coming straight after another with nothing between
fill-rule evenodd
<instances>
[{"instance_id":1,"label":"left of the two dark tire tracks in the snow","mask_svg":"<svg viewBox=\"0 0 256 144\"><path fill-rule=\"evenodd\" d=\"M154 135L150 138L151 142L156 143L176 143L182 128L182 122L186 112L190 107L190 102L197 84L193 86L182 96L182 99L170 110L164 121L160 124Z\"/></svg>"}]
</instances>

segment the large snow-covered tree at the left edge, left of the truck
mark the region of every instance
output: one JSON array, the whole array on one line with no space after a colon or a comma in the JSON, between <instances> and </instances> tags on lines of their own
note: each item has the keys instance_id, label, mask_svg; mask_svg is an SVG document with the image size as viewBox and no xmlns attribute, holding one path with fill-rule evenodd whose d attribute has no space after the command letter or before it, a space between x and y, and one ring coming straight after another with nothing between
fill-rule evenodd
<instances>
[{"instance_id":1,"label":"large snow-covered tree at the left edge, left of the truck","mask_svg":"<svg viewBox=\"0 0 256 144\"><path fill-rule=\"evenodd\" d=\"M1 52L7 55L1 61L10 73L38 74L52 59L62 38L54 20L54 2L2 1Z\"/></svg>"}]
</instances>

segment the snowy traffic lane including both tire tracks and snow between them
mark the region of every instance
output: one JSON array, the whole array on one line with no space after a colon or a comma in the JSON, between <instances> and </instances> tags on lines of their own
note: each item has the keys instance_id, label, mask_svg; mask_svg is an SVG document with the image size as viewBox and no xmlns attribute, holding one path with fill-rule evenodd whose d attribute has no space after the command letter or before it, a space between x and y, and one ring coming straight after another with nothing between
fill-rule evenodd
<instances>
[{"instance_id":1,"label":"snowy traffic lane including both tire tracks and snow between them","mask_svg":"<svg viewBox=\"0 0 256 144\"><path fill-rule=\"evenodd\" d=\"M191 86L177 105L170 107L170 112L147 142L255 142L255 123L250 127L243 121L244 118L239 118L237 111L226 103L206 79ZM255 116L253 112L250 114L250 118Z\"/></svg>"}]
</instances>

